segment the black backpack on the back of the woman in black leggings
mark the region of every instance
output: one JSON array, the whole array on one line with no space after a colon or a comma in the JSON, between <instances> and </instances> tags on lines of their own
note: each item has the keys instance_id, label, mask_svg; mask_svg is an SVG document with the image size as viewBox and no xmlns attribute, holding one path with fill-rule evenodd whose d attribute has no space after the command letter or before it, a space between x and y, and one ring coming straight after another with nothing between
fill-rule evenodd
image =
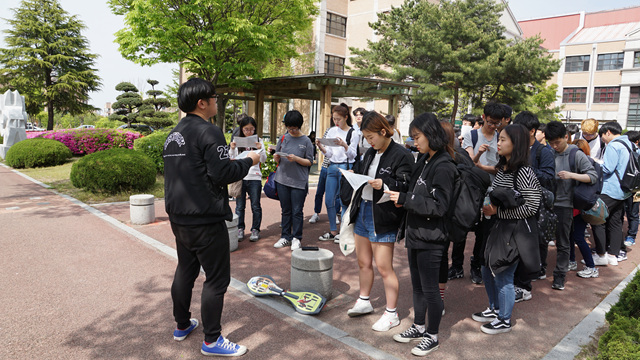
<instances>
[{"instance_id":1,"label":"black backpack on the back of the woman in black leggings","mask_svg":"<svg viewBox=\"0 0 640 360\"><path fill-rule=\"evenodd\" d=\"M466 151L462 156L469 156ZM456 167L460 173L460 181L456 184L455 200L451 212L451 225L455 228L470 231L480 221L480 210L484 202L487 188L491 185L489 174L469 162L459 161L461 153L456 153Z\"/></svg>"}]
</instances>

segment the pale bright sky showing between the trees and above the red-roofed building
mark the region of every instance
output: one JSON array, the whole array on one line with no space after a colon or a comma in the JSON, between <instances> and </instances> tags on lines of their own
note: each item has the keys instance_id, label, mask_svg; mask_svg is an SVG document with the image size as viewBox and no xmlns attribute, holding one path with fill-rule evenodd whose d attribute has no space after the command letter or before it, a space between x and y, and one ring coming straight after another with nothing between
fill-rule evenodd
<instances>
[{"instance_id":1,"label":"pale bright sky showing between the trees and above the red-roofed building","mask_svg":"<svg viewBox=\"0 0 640 360\"><path fill-rule=\"evenodd\" d=\"M366 0L373 1L373 0ZM104 109L105 103L114 102L119 92L115 86L128 81L145 92L151 87L147 79L158 80L158 88L164 90L172 83L172 69L177 64L158 64L154 66L139 66L125 60L114 43L116 31L124 27L122 16L111 13L104 0L59 0L62 8L71 15L77 15L87 27L83 35L89 41L90 52L98 54L96 61L98 75L102 78L100 91L92 92L89 103L99 109ZM638 0L510 0L509 7L517 20L527 20L539 17L563 15L580 11L600 11L637 6ZM13 9L20 6L20 0L2 0L0 10L0 46L4 43L4 32L8 28L7 18L13 18Z\"/></svg>"}]
</instances>

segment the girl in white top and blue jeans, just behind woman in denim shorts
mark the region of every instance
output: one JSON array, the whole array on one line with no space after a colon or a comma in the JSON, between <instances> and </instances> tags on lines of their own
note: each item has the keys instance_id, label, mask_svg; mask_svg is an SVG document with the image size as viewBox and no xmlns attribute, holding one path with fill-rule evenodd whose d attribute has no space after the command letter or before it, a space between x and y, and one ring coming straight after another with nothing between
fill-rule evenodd
<instances>
[{"instance_id":1,"label":"girl in white top and blue jeans, just behind woman in denim shorts","mask_svg":"<svg viewBox=\"0 0 640 360\"><path fill-rule=\"evenodd\" d=\"M336 205L332 201L340 194L340 170L352 169L356 159L356 149L360 140L358 131L354 131L351 127L351 114L346 104L334 106L331 112L333 122L336 126L329 129L327 138L337 139L337 146L324 146L316 141L318 148L324 156L329 158L329 167L327 168L327 182L325 189L325 205L327 207L327 215L329 216L329 232L320 236L320 241L335 241L338 234L336 225ZM350 135L349 135L350 134ZM342 211L346 210L346 206L341 204Z\"/></svg>"}]
</instances>

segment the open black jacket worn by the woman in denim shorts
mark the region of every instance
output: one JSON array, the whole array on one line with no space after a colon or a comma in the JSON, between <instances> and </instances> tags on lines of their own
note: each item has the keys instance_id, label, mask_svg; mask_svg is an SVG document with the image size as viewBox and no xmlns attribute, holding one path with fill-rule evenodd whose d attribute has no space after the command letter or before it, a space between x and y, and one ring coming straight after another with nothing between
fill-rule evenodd
<instances>
[{"instance_id":1,"label":"open black jacket worn by the woman in denim shorts","mask_svg":"<svg viewBox=\"0 0 640 360\"><path fill-rule=\"evenodd\" d=\"M375 157L377 150L369 148L364 153L364 158L359 161L354 169L355 173L366 175L369 166ZM380 163L376 169L376 179L382 179L382 182L393 191L406 191L409 180L411 179L411 170L413 169L413 156L405 148L391 140L391 143L380 157ZM351 204L351 212L349 213L351 222L355 222L360 203L362 200L362 190L360 187L354 195ZM373 190L373 223L377 234L385 234L388 232L398 231L398 225L404 215L404 210L395 206L393 201L386 201L377 204L378 200L384 194L384 190Z\"/></svg>"}]
</instances>

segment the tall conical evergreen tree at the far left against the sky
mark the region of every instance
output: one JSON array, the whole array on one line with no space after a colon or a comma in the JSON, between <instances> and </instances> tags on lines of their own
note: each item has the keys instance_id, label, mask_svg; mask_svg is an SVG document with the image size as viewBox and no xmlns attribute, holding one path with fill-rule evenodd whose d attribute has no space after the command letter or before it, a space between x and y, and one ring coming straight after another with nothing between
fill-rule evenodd
<instances>
[{"instance_id":1,"label":"tall conical evergreen tree at the far left against the sky","mask_svg":"<svg viewBox=\"0 0 640 360\"><path fill-rule=\"evenodd\" d=\"M46 107L48 130L55 111L75 115L95 110L87 101L89 92L100 88L93 68L97 55L89 53L83 23L57 0L23 0L12 10L7 47L0 49L0 91L18 90L31 116Z\"/></svg>"}]
</instances>

